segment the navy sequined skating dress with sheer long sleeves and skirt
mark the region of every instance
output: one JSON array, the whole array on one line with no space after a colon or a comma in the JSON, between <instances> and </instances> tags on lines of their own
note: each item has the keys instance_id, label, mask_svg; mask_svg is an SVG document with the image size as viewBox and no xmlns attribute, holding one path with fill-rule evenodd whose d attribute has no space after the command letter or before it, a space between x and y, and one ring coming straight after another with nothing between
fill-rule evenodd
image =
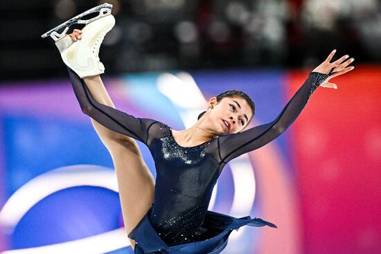
<instances>
[{"instance_id":1,"label":"navy sequined skating dress with sheer long sleeves and skirt","mask_svg":"<svg viewBox=\"0 0 381 254\"><path fill-rule=\"evenodd\" d=\"M103 126L147 145L157 170L154 203L129 237L135 253L220 253L240 226L272 226L263 219L234 218L207 210L222 168L233 158L258 149L289 127L328 75L311 73L281 114L265 125L227 134L195 147L181 147L167 125L135 118L101 105L85 82L69 69L73 89L85 114Z\"/></svg>"}]
</instances>

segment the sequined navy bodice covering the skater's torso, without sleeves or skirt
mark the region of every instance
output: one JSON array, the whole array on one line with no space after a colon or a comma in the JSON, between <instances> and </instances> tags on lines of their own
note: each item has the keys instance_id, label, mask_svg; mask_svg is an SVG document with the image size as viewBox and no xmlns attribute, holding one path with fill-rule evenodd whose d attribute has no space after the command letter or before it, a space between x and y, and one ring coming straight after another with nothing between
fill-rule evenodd
<instances>
[{"instance_id":1,"label":"sequined navy bodice covering the skater's torso, without sleeves or skirt","mask_svg":"<svg viewBox=\"0 0 381 254\"><path fill-rule=\"evenodd\" d=\"M157 151L153 154L157 167L155 197L166 199L155 199L152 225L170 246L195 242L206 232L202 223L218 179L218 163L204 151L210 141L181 147L168 125L161 124L160 129L162 137L154 141L152 149Z\"/></svg>"}]
</instances>

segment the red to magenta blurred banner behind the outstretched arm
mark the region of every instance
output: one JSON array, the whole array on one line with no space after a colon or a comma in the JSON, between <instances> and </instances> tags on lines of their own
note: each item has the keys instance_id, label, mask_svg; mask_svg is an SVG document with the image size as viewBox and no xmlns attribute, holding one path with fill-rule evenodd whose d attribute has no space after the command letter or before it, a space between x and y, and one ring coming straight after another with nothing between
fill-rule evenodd
<instances>
[{"instance_id":1,"label":"red to magenta blurred banner behind the outstretched arm","mask_svg":"<svg viewBox=\"0 0 381 254\"><path fill-rule=\"evenodd\" d=\"M290 72L287 97L308 73ZM381 68L319 87L292 128L304 253L381 251Z\"/></svg>"}]
</instances>

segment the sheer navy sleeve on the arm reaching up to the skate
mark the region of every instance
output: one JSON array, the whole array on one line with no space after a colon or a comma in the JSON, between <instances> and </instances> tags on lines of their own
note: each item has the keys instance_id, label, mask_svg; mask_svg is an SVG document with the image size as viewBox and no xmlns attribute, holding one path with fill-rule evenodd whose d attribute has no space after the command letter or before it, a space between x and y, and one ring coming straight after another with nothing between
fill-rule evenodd
<instances>
[{"instance_id":1,"label":"sheer navy sleeve on the arm reaching up to the skate","mask_svg":"<svg viewBox=\"0 0 381 254\"><path fill-rule=\"evenodd\" d=\"M155 120L135 118L122 111L102 105L94 99L89 88L75 72L68 68L74 93L82 111L104 127L147 144L148 131Z\"/></svg>"}]
</instances>

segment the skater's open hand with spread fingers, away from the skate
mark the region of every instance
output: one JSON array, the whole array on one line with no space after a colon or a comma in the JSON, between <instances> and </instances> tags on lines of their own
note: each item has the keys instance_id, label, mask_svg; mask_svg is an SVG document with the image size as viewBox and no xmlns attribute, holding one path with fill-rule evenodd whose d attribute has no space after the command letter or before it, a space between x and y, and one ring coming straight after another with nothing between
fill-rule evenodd
<instances>
[{"instance_id":1,"label":"skater's open hand with spread fingers, away from the skate","mask_svg":"<svg viewBox=\"0 0 381 254\"><path fill-rule=\"evenodd\" d=\"M327 59L313 70L315 72L322 73L322 74L330 74L328 78L323 83L320 84L320 87L328 87L328 88L337 89L336 84L330 83L328 81L331 78L335 78L339 75L342 75L344 73L347 73L348 71L352 71L353 69L355 69L355 67L353 66L347 67L349 64L351 64L355 60L354 58L348 59L349 55L344 55L343 57L339 58L335 62L330 62L332 60L333 55L335 55L335 53L336 53L336 50L332 51L330 55L328 55Z\"/></svg>"}]
</instances>

